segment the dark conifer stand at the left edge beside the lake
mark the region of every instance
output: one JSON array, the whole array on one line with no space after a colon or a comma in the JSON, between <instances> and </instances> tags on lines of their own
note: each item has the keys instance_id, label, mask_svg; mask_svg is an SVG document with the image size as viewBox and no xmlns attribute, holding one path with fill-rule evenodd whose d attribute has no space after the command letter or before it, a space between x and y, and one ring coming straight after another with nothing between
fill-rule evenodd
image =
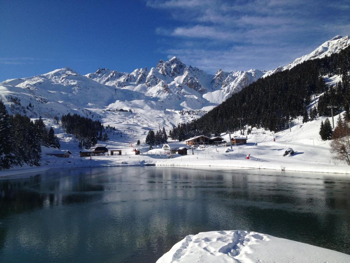
<instances>
[{"instance_id":1,"label":"dark conifer stand at the left edge beside the lake","mask_svg":"<svg viewBox=\"0 0 350 263\"><path fill-rule=\"evenodd\" d=\"M9 115L0 100L0 169L25 163L40 166L41 146L60 148L54 129L48 131L41 117L33 122L27 116Z\"/></svg>"}]
</instances>

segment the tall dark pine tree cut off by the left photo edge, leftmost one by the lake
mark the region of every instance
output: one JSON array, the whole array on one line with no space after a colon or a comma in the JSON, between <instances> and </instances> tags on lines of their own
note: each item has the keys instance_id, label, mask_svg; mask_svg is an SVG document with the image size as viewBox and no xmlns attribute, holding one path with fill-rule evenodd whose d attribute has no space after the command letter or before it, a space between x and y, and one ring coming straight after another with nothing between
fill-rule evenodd
<instances>
[{"instance_id":1,"label":"tall dark pine tree cut off by the left photo edge, leftmost one by the lake","mask_svg":"<svg viewBox=\"0 0 350 263\"><path fill-rule=\"evenodd\" d=\"M14 163L14 157L10 137L10 118L5 105L0 100L0 169L10 168Z\"/></svg>"}]
</instances>

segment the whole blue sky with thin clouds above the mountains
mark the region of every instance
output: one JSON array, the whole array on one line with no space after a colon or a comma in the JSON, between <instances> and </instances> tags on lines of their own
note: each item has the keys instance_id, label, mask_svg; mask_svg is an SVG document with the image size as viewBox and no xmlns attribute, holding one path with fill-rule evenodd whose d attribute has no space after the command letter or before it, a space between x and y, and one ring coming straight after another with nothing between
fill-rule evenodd
<instances>
[{"instance_id":1,"label":"whole blue sky with thin clouds above the mountains","mask_svg":"<svg viewBox=\"0 0 350 263\"><path fill-rule=\"evenodd\" d=\"M172 56L209 73L273 69L349 35L349 14L349 0L0 0L0 81Z\"/></svg>"}]
</instances>

